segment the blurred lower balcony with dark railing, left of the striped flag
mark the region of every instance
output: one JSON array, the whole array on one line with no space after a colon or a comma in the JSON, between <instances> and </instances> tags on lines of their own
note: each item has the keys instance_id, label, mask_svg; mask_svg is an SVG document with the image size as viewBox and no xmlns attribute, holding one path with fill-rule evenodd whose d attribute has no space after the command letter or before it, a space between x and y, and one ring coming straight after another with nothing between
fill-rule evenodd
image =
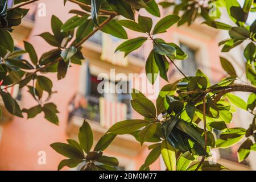
<instances>
[{"instance_id":1,"label":"blurred lower balcony with dark railing, left of the striped flag","mask_svg":"<svg viewBox=\"0 0 256 182\"><path fill-rule=\"evenodd\" d=\"M104 106L106 106L104 104ZM110 106L112 108L117 108L114 106ZM108 131L108 128L114 124L114 122L121 121L118 119L112 119L113 123L106 122L106 118L108 116L100 113L100 108L102 109L110 109L107 107L102 107L101 98L96 97L84 97L81 94L76 94L71 102L68 105L68 126L67 126L67 134L69 137L76 139L77 134L79 133L79 128L84 122L84 119L90 123L90 127L92 127L93 135L94 135L94 144L101 138L102 135ZM114 113L114 110L108 110L108 113ZM104 119L100 118L100 116L104 115ZM115 113L117 114L117 113ZM113 114L113 115L115 115ZM143 146L135 140L135 138L131 135L118 135L113 143L108 147L108 151L116 152L117 150L122 152L123 154L129 156L136 156L148 146L148 143L144 143Z\"/></svg>"}]
</instances>

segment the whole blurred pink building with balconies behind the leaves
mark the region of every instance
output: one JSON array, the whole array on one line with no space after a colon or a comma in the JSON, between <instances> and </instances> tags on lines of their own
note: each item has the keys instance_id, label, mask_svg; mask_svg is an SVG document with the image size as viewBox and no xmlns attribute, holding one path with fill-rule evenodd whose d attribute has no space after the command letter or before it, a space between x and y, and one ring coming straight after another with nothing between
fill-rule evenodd
<instances>
[{"instance_id":1,"label":"whole blurred pink building with balconies behind the leaves","mask_svg":"<svg viewBox=\"0 0 256 182\"><path fill-rule=\"evenodd\" d=\"M9 1L11 5L11 1ZM22 24L15 28L13 36L16 48L23 48L23 40L34 45L38 55L51 50L51 46L44 42L38 35L42 32L51 32L50 19L52 14L59 17L63 22L71 17L69 10L77 6L71 3L63 6L63 0L40 1L27 6L30 11ZM46 16L39 16L37 12L46 8ZM171 11L171 10L170 10ZM140 11L141 14L146 14ZM162 16L168 10L162 12ZM228 21L228 15L224 14L222 20ZM153 17L154 23L159 18ZM218 31L208 26L200 24L201 20L191 26L172 27L159 37L166 42L178 44L183 51L188 53L185 61L176 61L176 64L187 75L195 75L197 69L201 69L212 83L220 81L225 77L225 72L221 68L218 42L228 37L227 32ZM231 22L229 22L231 23ZM129 38L139 36L139 33L127 30ZM82 45L82 52L86 60L82 65L72 65L67 76L57 81L55 73L48 73L48 77L53 81L53 94L51 101L57 105L60 113L59 126L44 119L43 114L39 114L32 119L17 118L1 107L3 114L0 122L0 170L56 170L59 162L64 159L49 146L54 142L65 142L67 138L77 138L79 127L84 118L89 121L93 129L94 138L97 141L114 122L138 118L130 106L130 94L100 94L97 92L97 85L101 80L97 80L98 75L106 73L110 78L108 81L109 89L114 89L118 81L110 77L110 69L115 69L115 73L143 73L146 58L152 48L150 42L139 48L137 51L123 59L122 56L115 55L115 47L122 40L113 38L102 32L97 32L86 43ZM243 46L243 45L242 45ZM245 80L244 62L242 47L234 48L230 53L224 54L236 68L238 76ZM28 59L28 56L24 57ZM181 78L179 72L170 65L168 77L170 82ZM131 80L122 80L130 82ZM160 80L160 85L166 84ZM138 89L139 86L137 85ZM19 90L12 88L9 90L13 96L19 100L22 107L29 108L36 105L27 93L27 88ZM246 94L241 95L245 100ZM234 115L232 126L247 127L251 122L251 116L245 111L238 110ZM96 143L96 141L94 143ZM148 143L141 146L131 135L120 135L106 150L108 155L115 156L120 163L119 169L137 170L144 163L148 154ZM256 169L256 162L253 160L255 154L251 152L245 162L238 163L237 146L229 149L214 150L217 161L224 164L229 169ZM46 164L39 164L38 159L41 151L46 154ZM255 153L255 152L254 152ZM68 168L65 168L68 169ZM165 169L162 160L157 160L151 165L151 169Z\"/></svg>"}]
</instances>

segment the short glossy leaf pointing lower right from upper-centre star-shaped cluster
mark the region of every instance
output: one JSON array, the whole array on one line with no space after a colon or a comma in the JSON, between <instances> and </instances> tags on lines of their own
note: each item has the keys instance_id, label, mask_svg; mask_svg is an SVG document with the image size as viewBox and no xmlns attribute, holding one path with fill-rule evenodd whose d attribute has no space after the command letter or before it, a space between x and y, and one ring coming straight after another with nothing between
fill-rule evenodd
<instances>
[{"instance_id":1,"label":"short glossy leaf pointing lower right from upper-centre star-shaped cluster","mask_svg":"<svg viewBox=\"0 0 256 182\"><path fill-rule=\"evenodd\" d=\"M175 47L170 46L168 44L156 43L154 45L154 51L156 53L159 53L159 55L170 56L171 59L175 59L175 57L176 57L176 49L175 49Z\"/></svg>"}]
</instances>

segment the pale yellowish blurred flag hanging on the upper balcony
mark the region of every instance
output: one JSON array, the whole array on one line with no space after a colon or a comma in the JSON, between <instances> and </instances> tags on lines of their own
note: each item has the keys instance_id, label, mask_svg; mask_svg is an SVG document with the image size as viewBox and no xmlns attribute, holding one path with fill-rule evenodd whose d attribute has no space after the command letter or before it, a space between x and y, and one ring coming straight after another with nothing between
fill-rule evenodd
<instances>
[{"instance_id":1,"label":"pale yellowish blurred flag hanging on the upper balcony","mask_svg":"<svg viewBox=\"0 0 256 182\"><path fill-rule=\"evenodd\" d=\"M127 57L123 52L116 52L115 49L122 43L121 39L115 38L109 34L102 35L101 60L109 63L126 67L128 65Z\"/></svg>"}]
</instances>

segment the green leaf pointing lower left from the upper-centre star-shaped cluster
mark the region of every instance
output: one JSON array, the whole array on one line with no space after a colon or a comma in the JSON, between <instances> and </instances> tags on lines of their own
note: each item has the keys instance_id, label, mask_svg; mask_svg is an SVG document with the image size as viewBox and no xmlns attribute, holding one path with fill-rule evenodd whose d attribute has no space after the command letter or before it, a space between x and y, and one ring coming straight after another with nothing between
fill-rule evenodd
<instances>
[{"instance_id":1,"label":"green leaf pointing lower left from the upper-centre star-shaped cluster","mask_svg":"<svg viewBox=\"0 0 256 182\"><path fill-rule=\"evenodd\" d=\"M122 52L128 52L134 51L142 46L144 42L146 42L147 38L145 37L138 37L130 40L126 40L122 44L120 44L117 49L115 49L115 52L122 51Z\"/></svg>"}]
</instances>

